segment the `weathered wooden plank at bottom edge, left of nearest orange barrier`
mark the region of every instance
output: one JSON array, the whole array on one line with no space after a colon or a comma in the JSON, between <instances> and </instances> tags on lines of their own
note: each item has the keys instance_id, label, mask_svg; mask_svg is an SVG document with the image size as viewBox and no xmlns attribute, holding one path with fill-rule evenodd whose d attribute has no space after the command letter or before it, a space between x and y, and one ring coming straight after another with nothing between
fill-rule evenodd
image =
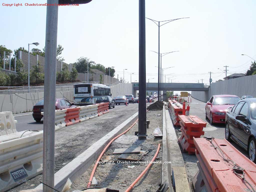
<instances>
[{"instance_id":1,"label":"weathered wooden plank at bottom edge, left of nearest orange barrier","mask_svg":"<svg viewBox=\"0 0 256 192\"><path fill-rule=\"evenodd\" d=\"M176 192L190 192L185 167L173 167L172 177L174 177Z\"/></svg>"}]
</instances>

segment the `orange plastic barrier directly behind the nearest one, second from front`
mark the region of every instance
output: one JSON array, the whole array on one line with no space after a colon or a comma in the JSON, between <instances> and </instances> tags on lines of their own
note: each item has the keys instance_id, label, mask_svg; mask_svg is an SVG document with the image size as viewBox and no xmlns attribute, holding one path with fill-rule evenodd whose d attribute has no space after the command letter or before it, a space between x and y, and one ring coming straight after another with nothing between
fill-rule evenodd
<instances>
[{"instance_id":1,"label":"orange plastic barrier directly behind the nearest one, second from front","mask_svg":"<svg viewBox=\"0 0 256 192\"><path fill-rule=\"evenodd\" d=\"M196 147L194 145L193 137L200 138L205 132L203 128L206 127L206 122L195 115L179 115L179 124L182 134L179 137L179 143L183 151L188 154L194 154Z\"/></svg>"}]
</instances>

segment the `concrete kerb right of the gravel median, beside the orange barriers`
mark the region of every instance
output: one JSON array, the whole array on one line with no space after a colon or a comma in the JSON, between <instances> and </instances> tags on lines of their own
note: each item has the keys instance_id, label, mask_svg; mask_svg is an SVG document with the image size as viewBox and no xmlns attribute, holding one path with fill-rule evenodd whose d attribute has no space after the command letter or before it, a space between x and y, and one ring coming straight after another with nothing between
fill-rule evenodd
<instances>
[{"instance_id":1,"label":"concrete kerb right of the gravel median, beside the orange barriers","mask_svg":"<svg viewBox=\"0 0 256 192\"><path fill-rule=\"evenodd\" d=\"M165 124L164 124L165 123ZM163 108L163 162L171 161L171 164L162 164L162 182L173 179L173 187L176 191L190 192L187 174L184 174L185 165L179 148L178 138L171 120L169 111ZM183 170L175 172L174 170ZM186 170L185 170L186 172ZM174 180L174 177L176 178ZM184 179L185 178L185 179ZM172 182L170 182L172 183ZM182 186L182 187L180 187ZM178 189L179 187L179 189Z\"/></svg>"}]
</instances>

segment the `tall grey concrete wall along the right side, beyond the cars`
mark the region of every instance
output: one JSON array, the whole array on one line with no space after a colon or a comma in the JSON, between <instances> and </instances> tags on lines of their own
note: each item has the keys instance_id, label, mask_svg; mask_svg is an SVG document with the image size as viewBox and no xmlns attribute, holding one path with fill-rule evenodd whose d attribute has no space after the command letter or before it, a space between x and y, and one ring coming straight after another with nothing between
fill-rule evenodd
<instances>
[{"instance_id":1,"label":"tall grey concrete wall along the right side, beyond the cars","mask_svg":"<svg viewBox=\"0 0 256 192\"><path fill-rule=\"evenodd\" d=\"M211 84L209 93L202 91L192 91L193 98L207 102L212 95L252 95L256 97L256 75L239 77Z\"/></svg>"}]
</instances>

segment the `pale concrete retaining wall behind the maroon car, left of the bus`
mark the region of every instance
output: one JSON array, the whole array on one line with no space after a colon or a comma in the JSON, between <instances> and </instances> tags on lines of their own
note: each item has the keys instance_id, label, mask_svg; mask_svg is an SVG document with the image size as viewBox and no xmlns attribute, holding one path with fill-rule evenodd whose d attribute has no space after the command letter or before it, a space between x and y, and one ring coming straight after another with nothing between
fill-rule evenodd
<instances>
[{"instance_id":1,"label":"pale concrete retaining wall behind the maroon car, left of the bus","mask_svg":"<svg viewBox=\"0 0 256 192\"><path fill-rule=\"evenodd\" d=\"M56 98L65 98L73 102L73 90L56 92ZM42 99L44 99L44 93L0 95L0 112L12 111L13 114L29 112L32 111L33 106Z\"/></svg>"}]
</instances>

